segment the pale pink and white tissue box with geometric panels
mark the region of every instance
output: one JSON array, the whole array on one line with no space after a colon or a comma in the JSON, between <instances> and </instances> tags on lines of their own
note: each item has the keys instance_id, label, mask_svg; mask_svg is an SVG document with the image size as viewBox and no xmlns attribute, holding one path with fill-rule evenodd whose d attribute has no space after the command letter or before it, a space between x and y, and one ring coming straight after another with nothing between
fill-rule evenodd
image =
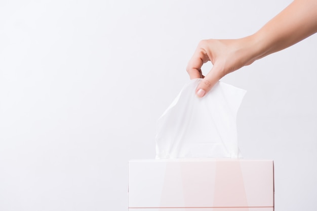
<instances>
[{"instance_id":1,"label":"pale pink and white tissue box with geometric panels","mask_svg":"<svg viewBox=\"0 0 317 211\"><path fill-rule=\"evenodd\" d=\"M129 161L130 211L273 211L273 161Z\"/></svg>"}]
</instances>

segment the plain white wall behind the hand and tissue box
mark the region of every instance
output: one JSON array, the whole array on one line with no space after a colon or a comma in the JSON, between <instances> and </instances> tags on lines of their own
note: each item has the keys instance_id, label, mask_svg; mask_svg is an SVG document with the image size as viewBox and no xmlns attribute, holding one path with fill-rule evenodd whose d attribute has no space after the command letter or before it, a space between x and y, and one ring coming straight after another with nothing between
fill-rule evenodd
<instances>
[{"instance_id":1,"label":"plain white wall behind the hand and tissue box","mask_svg":"<svg viewBox=\"0 0 317 211\"><path fill-rule=\"evenodd\" d=\"M0 1L0 210L127 210L128 160L154 158L197 43L252 34L290 2ZM240 148L274 160L275 210L316 210L316 46L222 79L248 90Z\"/></svg>"}]
</instances>

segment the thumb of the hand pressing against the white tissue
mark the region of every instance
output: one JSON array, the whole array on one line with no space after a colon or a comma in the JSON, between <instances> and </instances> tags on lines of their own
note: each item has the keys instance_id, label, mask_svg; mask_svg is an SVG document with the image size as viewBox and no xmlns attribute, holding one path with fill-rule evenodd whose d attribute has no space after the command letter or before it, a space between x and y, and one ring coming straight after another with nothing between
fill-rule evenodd
<instances>
[{"instance_id":1,"label":"thumb of the hand pressing against the white tissue","mask_svg":"<svg viewBox=\"0 0 317 211\"><path fill-rule=\"evenodd\" d=\"M207 92L223 77L224 75L213 66L210 72L205 76L205 78L200 82L196 88L196 95L203 97Z\"/></svg>"}]
</instances>

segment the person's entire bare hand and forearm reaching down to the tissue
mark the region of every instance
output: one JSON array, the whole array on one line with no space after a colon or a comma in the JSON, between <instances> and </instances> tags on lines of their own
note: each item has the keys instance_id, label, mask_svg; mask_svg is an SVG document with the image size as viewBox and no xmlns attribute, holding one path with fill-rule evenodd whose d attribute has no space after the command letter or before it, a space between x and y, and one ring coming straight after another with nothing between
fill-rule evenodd
<instances>
[{"instance_id":1,"label":"person's entire bare hand and forearm reaching down to the tissue","mask_svg":"<svg viewBox=\"0 0 317 211\"><path fill-rule=\"evenodd\" d=\"M200 41L186 68L190 79L204 78L196 88L196 95L203 97L226 74L316 32L317 0L295 0L250 36ZM208 61L213 67L205 77L201 68Z\"/></svg>"}]
</instances>

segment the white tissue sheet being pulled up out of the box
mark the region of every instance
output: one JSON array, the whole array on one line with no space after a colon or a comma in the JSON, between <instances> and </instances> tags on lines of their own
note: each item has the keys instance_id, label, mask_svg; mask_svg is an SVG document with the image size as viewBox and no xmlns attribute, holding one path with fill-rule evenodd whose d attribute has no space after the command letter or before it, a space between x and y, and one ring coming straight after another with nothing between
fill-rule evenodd
<instances>
[{"instance_id":1,"label":"white tissue sheet being pulled up out of the box","mask_svg":"<svg viewBox=\"0 0 317 211\"><path fill-rule=\"evenodd\" d=\"M157 122L156 159L242 157L236 114L246 91L219 81L199 98L201 80L190 80Z\"/></svg>"}]
</instances>

